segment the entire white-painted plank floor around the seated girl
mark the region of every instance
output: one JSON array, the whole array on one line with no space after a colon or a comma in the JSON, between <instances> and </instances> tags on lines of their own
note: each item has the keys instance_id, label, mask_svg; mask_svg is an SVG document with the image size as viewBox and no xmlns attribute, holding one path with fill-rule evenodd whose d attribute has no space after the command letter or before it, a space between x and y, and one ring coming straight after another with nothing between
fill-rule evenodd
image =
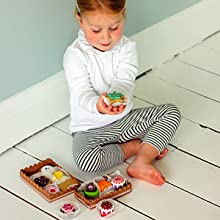
<instances>
[{"instance_id":1,"label":"entire white-painted plank floor around the seated girl","mask_svg":"<svg viewBox=\"0 0 220 220\"><path fill-rule=\"evenodd\" d=\"M138 79L135 101L136 107L174 103L182 121L168 155L155 162L167 179L162 187L128 177L132 158L112 169L133 184L131 193L116 199L123 208L112 219L219 220L220 33ZM1 219L59 219L57 202L75 201L69 195L48 203L20 179L23 167L50 157L82 181L100 175L76 168L68 123L64 118L0 155ZM80 208L76 219L99 219L96 209Z\"/></svg>"}]
</instances>

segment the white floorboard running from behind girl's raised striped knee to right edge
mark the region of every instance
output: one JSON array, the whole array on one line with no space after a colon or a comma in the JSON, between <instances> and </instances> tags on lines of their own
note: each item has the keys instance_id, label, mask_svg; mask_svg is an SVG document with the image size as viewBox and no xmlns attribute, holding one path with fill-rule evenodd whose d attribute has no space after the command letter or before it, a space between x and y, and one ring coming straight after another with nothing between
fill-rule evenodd
<instances>
[{"instance_id":1,"label":"white floorboard running from behind girl's raised striped knee to right edge","mask_svg":"<svg viewBox=\"0 0 220 220\"><path fill-rule=\"evenodd\" d=\"M136 82L135 96L152 104L174 103L184 118L220 130L220 105L148 73ZM210 114L211 113L211 114Z\"/></svg>"}]
</instances>

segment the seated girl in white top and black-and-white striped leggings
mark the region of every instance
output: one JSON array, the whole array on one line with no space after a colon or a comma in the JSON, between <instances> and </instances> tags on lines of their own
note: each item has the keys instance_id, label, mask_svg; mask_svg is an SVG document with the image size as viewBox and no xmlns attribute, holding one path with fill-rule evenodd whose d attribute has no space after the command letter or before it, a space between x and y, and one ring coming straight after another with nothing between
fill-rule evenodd
<instances>
[{"instance_id":1,"label":"seated girl in white top and black-and-white striped leggings","mask_svg":"<svg viewBox=\"0 0 220 220\"><path fill-rule=\"evenodd\" d=\"M165 178L152 162L167 153L179 110L172 104L133 109L138 62L135 43L123 35L125 0L76 4L80 30L64 55L74 160L81 170L96 172L136 155L127 173L161 185ZM106 105L103 97L113 91L127 105Z\"/></svg>"}]
</instances>

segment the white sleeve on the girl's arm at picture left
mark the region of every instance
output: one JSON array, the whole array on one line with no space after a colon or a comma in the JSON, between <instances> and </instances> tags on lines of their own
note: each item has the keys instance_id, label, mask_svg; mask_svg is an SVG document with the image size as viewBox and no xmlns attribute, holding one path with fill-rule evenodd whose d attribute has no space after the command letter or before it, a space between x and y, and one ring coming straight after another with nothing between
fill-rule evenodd
<instances>
[{"instance_id":1,"label":"white sleeve on the girl's arm at picture left","mask_svg":"<svg viewBox=\"0 0 220 220\"><path fill-rule=\"evenodd\" d=\"M100 114L96 108L99 96L94 91L85 55L77 48L68 48L63 62L70 94L85 110Z\"/></svg>"}]
</instances>

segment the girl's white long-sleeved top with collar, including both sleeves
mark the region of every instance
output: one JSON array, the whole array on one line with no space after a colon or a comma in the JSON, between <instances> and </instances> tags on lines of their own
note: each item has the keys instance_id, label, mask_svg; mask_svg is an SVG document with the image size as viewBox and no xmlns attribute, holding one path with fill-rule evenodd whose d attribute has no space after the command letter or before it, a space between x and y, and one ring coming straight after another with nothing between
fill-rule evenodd
<instances>
[{"instance_id":1,"label":"girl's white long-sleeved top with collar, including both sleeves","mask_svg":"<svg viewBox=\"0 0 220 220\"><path fill-rule=\"evenodd\" d=\"M131 111L138 71L135 42L123 36L109 51L88 44L82 30L67 48L64 70L70 92L70 130L84 131L110 124ZM96 104L105 92L121 92L128 97L125 110L117 115L101 114Z\"/></svg>"}]
</instances>

